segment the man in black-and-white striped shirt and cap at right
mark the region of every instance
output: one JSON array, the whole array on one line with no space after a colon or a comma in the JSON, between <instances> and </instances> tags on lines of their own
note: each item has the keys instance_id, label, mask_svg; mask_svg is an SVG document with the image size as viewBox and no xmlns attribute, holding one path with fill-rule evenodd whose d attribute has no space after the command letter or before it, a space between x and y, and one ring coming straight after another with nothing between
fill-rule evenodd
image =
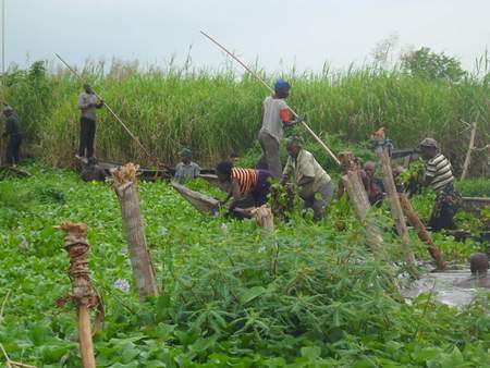
<instances>
[{"instance_id":1,"label":"man in black-and-white striped shirt and cap at right","mask_svg":"<svg viewBox=\"0 0 490 368\"><path fill-rule=\"evenodd\" d=\"M456 225L453 218L460 207L461 196L454 187L451 162L438 152L436 139L425 138L419 148L426 161L424 185L430 185L437 196L428 225L434 231L454 230Z\"/></svg>"}]
</instances>

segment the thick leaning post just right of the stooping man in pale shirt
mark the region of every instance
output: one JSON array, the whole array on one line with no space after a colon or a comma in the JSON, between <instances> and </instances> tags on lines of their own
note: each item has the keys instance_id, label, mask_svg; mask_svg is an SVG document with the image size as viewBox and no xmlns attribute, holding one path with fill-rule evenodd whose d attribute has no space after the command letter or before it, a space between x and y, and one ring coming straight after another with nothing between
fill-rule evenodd
<instances>
[{"instance_id":1,"label":"thick leaning post just right of the stooping man in pale shirt","mask_svg":"<svg viewBox=\"0 0 490 368\"><path fill-rule=\"evenodd\" d=\"M360 177L358 160L350 151L340 152L339 159L343 171L341 180L347 191L348 199L352 203L357 218L364 225L366 225L367 242L372 249L375 257L378 257L383 238L378 225L375 223L375 220L368 217L371 205L369 204L369 199Z\"/></svg>"}]
</instances>

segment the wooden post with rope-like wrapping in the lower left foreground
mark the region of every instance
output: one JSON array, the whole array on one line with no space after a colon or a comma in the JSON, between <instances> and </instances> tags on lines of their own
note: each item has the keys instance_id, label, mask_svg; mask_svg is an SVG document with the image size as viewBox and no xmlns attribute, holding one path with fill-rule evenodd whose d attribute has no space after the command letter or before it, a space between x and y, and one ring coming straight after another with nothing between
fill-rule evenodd
<instances>
[{"instance_id":1,"label":"wooden post with rope-like wrapping in the lower left foreground","mask_svg":"<svg viewBox=\"0 0 490 368\"><path fill-rule=\"evenodd\" d=\"M84 368L95 368L96 363L90 332L90 309L97 308L97 321L103 319L103 308L88 274L88 252L90 246L87 242L87 225L85 223L63 222L59 228L66 232L64 249L70 256L69 275L72 281L72 294L60 298L57 304L63 305L68 300L72 300L76 305L82 365Z\"/></svg>"}]
</instances>

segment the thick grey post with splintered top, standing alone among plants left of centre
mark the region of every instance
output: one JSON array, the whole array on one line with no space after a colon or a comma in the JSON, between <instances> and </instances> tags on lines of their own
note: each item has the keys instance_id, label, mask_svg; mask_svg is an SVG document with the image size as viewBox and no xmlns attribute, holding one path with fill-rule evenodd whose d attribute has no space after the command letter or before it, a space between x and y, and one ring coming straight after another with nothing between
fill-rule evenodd
<instances>
[{"instance_id":1,"label":"thick grey post with splintered top, standing alone among plants left of centre","mask_svg":"<svg viewBox=\"0 0 490 368\"><path fill-rule=\"evenodd\" d=\"M139 209L139 196L136 188L136 170L133 163L115 170L113 187L121 205L121 214L126 233L133 277L136 282L139 300L147 296L158 296L160 291L151 256L146 245L145 225Z\"/></svg>"}]
</instances>

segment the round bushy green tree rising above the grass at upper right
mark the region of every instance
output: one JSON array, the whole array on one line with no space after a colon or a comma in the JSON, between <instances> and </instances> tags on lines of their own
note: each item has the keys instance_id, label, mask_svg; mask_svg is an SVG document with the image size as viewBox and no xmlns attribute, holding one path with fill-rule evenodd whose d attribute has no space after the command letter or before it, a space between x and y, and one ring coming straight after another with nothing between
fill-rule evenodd
<instances>
[{"instance_id":1,"label":"round bushy green tree rising above the grass at upper right","mask_svg":"<svg viewBox=\"0 0 490 368\"><path fill-rule=\"evenodd\" d=\"M428 79L460 82L466 75L456 58L444 52L436 53L428 47L403 54L402 69L413 76Z\"/></svg>"}]
</instances>

